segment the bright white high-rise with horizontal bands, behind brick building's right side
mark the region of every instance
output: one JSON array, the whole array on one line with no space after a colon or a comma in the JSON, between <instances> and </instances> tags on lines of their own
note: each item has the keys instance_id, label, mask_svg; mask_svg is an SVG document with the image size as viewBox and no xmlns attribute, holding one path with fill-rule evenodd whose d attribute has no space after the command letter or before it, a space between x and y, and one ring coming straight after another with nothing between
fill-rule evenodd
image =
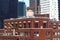
<instances>
[{"instance_id":1,"label":"bright white high-rise with horizontal bands, behind brick building's right side","mask_svg":"<svg viewBox=\"0 0 60 40\"><path fill-rule=\"evenodd\" d=\"M50 19L58 20L58 0L40 0L41 14L49 14Z\"/></svg>"}]
</instances>

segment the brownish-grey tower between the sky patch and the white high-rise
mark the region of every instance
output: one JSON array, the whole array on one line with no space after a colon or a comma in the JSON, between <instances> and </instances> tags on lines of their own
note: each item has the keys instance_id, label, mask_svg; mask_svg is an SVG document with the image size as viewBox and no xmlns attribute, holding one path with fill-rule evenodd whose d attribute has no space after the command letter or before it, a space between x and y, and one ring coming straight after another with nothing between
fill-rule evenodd
<instances>
[{"instance_id":1,"label":"brownish-grey tower between the sky patch and the white high-rise","mask_svg":"<svg viewBox=\"0 0 60 40\"><path fill-rule=\"evenodd\" d=\"M30 0L30 8L34 11L34 13L40 12L40 0Z\"/></svg>"}]
</instances>

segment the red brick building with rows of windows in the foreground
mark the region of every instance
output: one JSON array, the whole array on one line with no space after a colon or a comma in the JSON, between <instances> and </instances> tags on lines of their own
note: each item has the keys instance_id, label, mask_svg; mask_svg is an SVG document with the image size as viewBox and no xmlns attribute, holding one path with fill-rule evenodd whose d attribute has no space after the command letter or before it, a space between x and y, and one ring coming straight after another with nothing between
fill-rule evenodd
<instances>
[{"instance_id":1,"label":"red brick building with rows of windows in the foreground","mask_svg":"<svg viewBox=\"0 0 60 40\"><path fill-rule=\"evenodd\" d=\"M38 15L4 20L0 40L60 40L60 22Z\"/></svg>"}]
</instances>

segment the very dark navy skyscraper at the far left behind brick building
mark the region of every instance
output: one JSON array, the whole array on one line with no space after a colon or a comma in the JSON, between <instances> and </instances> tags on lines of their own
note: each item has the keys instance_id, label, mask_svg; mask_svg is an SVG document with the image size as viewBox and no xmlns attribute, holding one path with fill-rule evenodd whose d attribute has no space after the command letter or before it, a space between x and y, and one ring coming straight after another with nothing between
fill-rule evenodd
<instances>
[{"instance_id":1,"label":"very dark navy skyscraper at the far left behind brick building","mask_svg":"<svg viewBox=\"0 0 60 40\"><path fill-rule=\"evenodd\" d=\"M0 0L0 28L3 28L3 20L17 17L18 0Z\"/></svg>"}]
</instances>

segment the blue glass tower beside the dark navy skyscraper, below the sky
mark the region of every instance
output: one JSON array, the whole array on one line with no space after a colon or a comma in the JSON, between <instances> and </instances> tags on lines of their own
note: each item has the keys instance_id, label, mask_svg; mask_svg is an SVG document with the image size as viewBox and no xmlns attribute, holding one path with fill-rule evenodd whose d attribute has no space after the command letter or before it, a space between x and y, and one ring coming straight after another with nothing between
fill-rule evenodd
<instances>
[{"instance_id":1,"label":"blue glass tower beside the dark navy skyscraper, below the sky","mask_svg":"<svg viewBox=\"0 0 60 40\"><path fill-rule=\"evenodd\" d=\"M18 2L18 17L26 16L25 2Z\"/></svg>"}]
</instances>

